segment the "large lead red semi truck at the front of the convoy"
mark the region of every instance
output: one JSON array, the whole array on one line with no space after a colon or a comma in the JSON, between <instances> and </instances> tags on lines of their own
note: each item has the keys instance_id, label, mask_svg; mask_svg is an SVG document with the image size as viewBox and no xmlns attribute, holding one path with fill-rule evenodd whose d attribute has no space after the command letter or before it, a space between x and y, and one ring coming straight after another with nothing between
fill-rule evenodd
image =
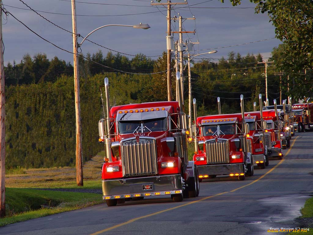
<instances>
[{"instance_id":1,"label":"large lead red semi truck at the front of the convoy","mask_svg":"<svg viewBox=\"0 0 313 235\"><path fill-rule=\"evenodd\" d=\"M177 74L180 82L180 74ZM105 145L103 199L115 206L129 199L169 195L173 201L199 195L197 165L187 157L187 117L179 102L149 102L110 108L99 121Z\"/></svg>"}]
</instances>

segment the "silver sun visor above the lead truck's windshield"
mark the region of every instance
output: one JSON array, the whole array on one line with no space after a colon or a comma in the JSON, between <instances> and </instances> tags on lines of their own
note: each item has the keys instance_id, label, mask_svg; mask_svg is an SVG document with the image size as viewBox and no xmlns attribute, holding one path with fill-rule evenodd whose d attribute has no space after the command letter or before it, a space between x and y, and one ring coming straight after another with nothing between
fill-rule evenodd
<instances>
[{"instance_id":1,"label":"silver sun visor above the lead truck's windshield","mask_svg":"<svg viewBox=\"0 0 313 235\"><path fill-rule=\"evenodd\" d=\"M116 116L117 121L140 121L155 118L166 118L168 112L165 110L153 112L133 112L133 113L118 113Z\"/></svg>"}]
</instances>

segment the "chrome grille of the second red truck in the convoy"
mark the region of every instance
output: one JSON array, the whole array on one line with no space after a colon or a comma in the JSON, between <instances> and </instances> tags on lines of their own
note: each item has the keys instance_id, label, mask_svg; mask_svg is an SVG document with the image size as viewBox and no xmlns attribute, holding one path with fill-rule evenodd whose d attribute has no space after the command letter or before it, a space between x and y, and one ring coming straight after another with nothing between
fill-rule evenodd
<instances>
[{"instance_id":1,"label":"chrome grille of the second red truck in the convoy","mask_svg":"<svg viewBox=\"0 0 313 235\"><path fill-rule=\"evenodd\" d=\"M208 164L228 163L229 144L228 140L207 141L205 144Z\"/></svg>"}]
</instances>

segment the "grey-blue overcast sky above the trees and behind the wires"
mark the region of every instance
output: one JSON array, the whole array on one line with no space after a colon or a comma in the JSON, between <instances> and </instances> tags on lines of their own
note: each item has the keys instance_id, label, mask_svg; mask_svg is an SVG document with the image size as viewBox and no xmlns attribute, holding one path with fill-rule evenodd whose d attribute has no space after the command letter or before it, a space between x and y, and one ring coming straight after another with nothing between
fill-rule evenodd
<instances>
[{"instance_id":1,"label":"grey-blue overcast sky above the trees and behind the wires","mask_svg":"<svg viewBox=\"0 0 313 235\"><path fill-rule=\"evenodd\" d=\"M8 12L35 33L64 50L73 51L72 34L49 23L20 0L3 0L2 2ZM72 31L70 0L23 0L23 2L59 27ZM162 0L162 3L165 2L166 0ZM172 2L182 3L183 1L172 0ZM239 52L242 56L247 53L254 55L261 53L264 58L269 57L273 47L280 44L278 39L273 39L275 28L269 22L266 13L254 13L254 3L250 3L248 0L242 2L238 7L232 7L229 0L225 0L225 3L221 3L219 0L189 0L187 5L173 6L172 17L175 15L178 17L178 13L183 18L195 16L196 20L183 22L184 30L196 29L195 35L183 34L184 41L186 39L191 39L192 42L200 41L200 44L194 46L194 54L213 49L218 50L218 53L215 54L199 56L199 59L219 59L222 56L227 58L230 51ZM102 46L131 55L142 53L147 56L155 56L161 55L166 50L167 11L163 6L151 6L151 1L78 0L76 1L76 14L77 32L83 36L106 24L133 25L142 22L151 26L147 30L131 27L105 27L88 37ZM9 14L7 18L5 15L3 17L5 66L13 60L19 63L23 55L27 53L31 56L36 53L45 53L49 60L58 56L59 59L73 64L72 54L39 38L13 16ZM178 31L178 21L172 21L172 30ZM174 34L174 38L178 39L178 35ZM81 40L82 38L78 39L79 43ZM256 42L259 40L262 41ZM235 46L238 44L243 45ZM93 54L102 50L105 56L108 52L107 49L88 41L83 43L81 50L84 55L87 52ZM113 53L115 54L115 52ZM132 58L132 56L128 57ZM156 58L152 57L152 59Z\"/></svg>"}]
</instances>

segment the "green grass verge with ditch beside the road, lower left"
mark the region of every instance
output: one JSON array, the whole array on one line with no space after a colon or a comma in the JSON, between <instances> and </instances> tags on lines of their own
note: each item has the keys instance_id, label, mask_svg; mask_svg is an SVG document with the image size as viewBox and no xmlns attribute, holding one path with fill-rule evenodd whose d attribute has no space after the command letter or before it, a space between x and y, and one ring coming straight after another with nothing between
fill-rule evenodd
<instances>
[{"instance_id":1,"label":"green grass verge with ditch beside the road, lower left","mask_svg":"<svg viewBox=\"0 0 313 235\"><path fill-rule=\"evenodd\" d=\"M95 193L6 188L6 214L0 226L102 203Z\"/></svg>"}]
</instances>

